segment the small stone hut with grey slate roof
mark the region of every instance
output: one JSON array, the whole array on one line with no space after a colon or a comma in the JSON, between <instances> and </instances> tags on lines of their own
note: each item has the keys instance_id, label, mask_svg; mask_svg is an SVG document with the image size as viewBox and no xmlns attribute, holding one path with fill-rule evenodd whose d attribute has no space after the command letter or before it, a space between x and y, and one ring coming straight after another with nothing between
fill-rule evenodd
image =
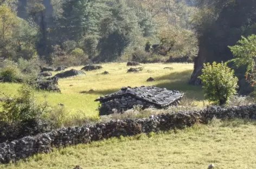
<instances>
[{"instance_id":1,"label":"small stone hut with grey slate roof","mask_svg":"<svg viewBox=\"0 0 256 169\"><path fill-rule=\"evenodd\" d=\"M121 113L140 105L142 109L166 108L177 105L183 97L183 93L155 86L123 87L118 92L100 97L95 101L101 103L100 115L108 115L114 112Z\"/></svg>"}]
</instances>

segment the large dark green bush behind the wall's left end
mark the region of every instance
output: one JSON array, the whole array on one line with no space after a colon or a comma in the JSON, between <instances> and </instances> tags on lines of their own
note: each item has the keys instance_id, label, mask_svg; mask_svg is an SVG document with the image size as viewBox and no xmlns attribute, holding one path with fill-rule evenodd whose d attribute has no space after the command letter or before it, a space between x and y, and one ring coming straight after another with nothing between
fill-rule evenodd
<instances>
[{"instance_id":1,"label":"large dark green bush behind the wall's left end","mask_svg":"<svg viewBox=\"0 0 256 169\"><path fill-rule=\"evenodd\" d=\"M25 84L18 94L16 98L5 96L3 101L3 111L0 112L1 142L49 131L50 123L45 117L52 112L48 103L38 104L33 89Z\"/></svg>"}]
</instances>

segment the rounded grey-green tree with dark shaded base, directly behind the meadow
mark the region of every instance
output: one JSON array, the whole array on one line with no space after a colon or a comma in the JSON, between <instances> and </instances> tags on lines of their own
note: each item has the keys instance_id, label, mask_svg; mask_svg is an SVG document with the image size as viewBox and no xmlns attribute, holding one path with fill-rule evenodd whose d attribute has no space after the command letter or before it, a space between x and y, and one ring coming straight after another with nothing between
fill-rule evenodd
<instances>
[{"instance_id":1,"label":"rounded grey-green tree with dark shaded base, directly behind the meadow","mask_svg":"<svg viewBox=\"0 0 256 169\"><path fill-rule=\"evenodd\" d=\"M100 23L98 44L99 60L114 61L124 53L124 49L142 35L135 11L123 2L115 3Z\"/></svg>"}]
</instances>

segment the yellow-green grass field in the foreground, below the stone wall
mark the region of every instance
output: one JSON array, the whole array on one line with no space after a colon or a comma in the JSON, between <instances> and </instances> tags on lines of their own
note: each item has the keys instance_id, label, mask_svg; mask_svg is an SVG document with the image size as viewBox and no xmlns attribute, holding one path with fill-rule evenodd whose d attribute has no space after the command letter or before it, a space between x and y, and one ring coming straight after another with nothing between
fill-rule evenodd
<instances>
[{"instance_id":1,"label":"yellow-green grass field in the foreground, below the stone wall","mask_svg":"<svg viewBox=\"0 0 256 169\"><path fill-rule=\"evenodd\" d=\"M195 125L176 133L114 138L39 154L7 169L255 168L255 122L235 120ZM1 166L0 166L1 167Z\"/></svg>"}]
</instances>

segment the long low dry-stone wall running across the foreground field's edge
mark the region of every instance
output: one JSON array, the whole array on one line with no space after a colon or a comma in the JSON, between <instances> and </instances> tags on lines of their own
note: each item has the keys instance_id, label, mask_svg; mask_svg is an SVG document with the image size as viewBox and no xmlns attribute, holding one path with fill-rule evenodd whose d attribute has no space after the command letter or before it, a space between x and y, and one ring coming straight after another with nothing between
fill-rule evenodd
<instances>
[{"instance_id":1,"label":"long low dry-stone wall running across the foreground field's edge","mask_svg":"<svg viewBox=\"0 0 256 169\"><path fill-rule=\"evenodd\" d=\"M82 127L61 128L50 133L0 144L0 163L10 163L37 153L49 153L53 147L88 144L91 141L119 137L120 135L129 136L168 131L174 128L182 129L197 122L207 123L214 116L219 119L256 119L256 105L228 109L210 107L202 111L188 113L167 113L142 119L111 120Z\"/></svg>"}]
</instances>

